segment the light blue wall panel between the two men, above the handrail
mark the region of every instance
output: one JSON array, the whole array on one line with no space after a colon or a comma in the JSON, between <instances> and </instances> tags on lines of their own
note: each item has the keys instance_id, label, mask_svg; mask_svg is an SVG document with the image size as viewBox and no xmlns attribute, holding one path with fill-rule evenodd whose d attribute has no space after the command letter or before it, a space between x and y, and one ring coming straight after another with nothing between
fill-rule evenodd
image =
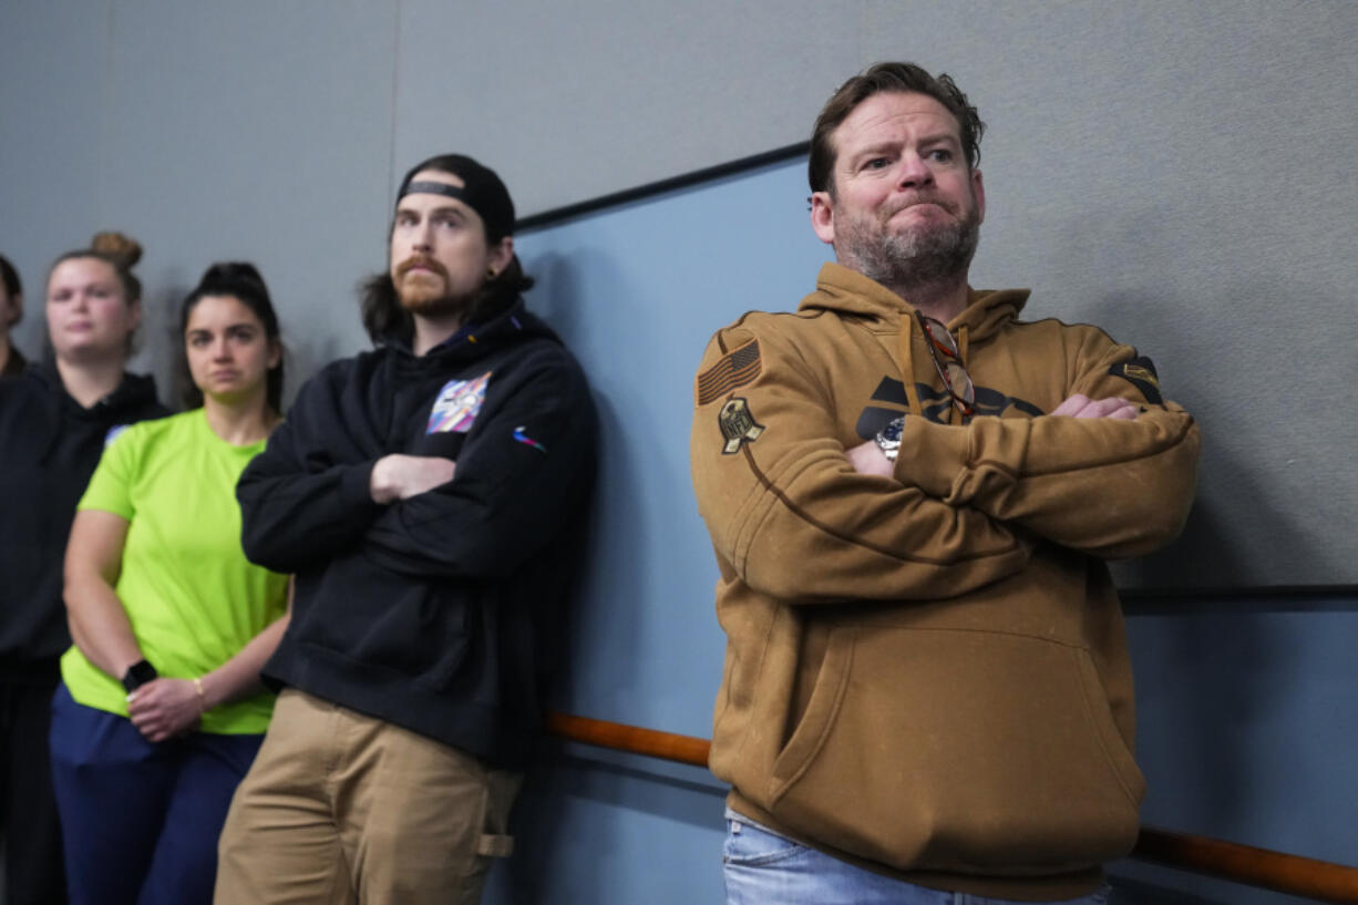
<instances>
[{"instance_id":1,"label":"light blue wall panel between the two men, above the handrail","mask_svg":"<svg viewBox=\"0 0 1358 905\"><path fill-rule=\"evenodd\" d=\"M564 709L710 731L724 639L689 478L693 379L718 326L750 308L794 307L813 287L828 249L811 234L804 197L800 168L773 166L519 239L540 280L530 306L589 372L602 424Z\"/></svg>"}]
</instances>

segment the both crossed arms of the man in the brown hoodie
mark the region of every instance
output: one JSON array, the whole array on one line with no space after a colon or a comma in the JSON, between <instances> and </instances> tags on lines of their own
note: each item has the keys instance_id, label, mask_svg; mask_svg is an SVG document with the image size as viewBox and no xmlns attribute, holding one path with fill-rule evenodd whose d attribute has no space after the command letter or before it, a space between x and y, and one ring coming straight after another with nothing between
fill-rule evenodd
<instances>
[{"instance_id":1,"label":"both crossed arms of the man in the brown hoodie","mask_svg":"<svg viewBox=\"0 0 1358 905\"><path fill-rule=\"evenodd\" d=\"M718 334L703 366L748 336ZM721 401L694 416L699 512L724 565L762 592L789 602L945 598L1021 571L1038 544L1137 556L1187 516L1196 425L1109 376L1135 355L1130 347L1107 341L1044 416L964 427L907 416L884 474L880 452L841 439L828 375L785 340L759 336L759 376L736 393L763 428L758 439L725 454L710 440Z\"/></svg>"}]
</instances>

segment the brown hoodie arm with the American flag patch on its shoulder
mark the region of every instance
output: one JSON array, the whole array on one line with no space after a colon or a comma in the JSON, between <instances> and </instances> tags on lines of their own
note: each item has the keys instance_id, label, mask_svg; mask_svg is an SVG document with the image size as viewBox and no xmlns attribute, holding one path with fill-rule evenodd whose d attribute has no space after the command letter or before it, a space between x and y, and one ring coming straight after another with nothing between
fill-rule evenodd
<instances>
[{"instance_id":1,"label":"brown hoodie arm with the American flag patch on its shoulder","mask_svg":"<svg viewBox=\"0 0 1358 905\"><path fill-rule=\"evenodd\" d=\"M751 338L744 327L717 334L699 386ZM699 393L691 435L698 510L747 584L808 603L928 599L1024 567L1031 542L999 520L857 473L818 376L777 340L759 348L751 383Z\"/></svg>"}]
</instances>

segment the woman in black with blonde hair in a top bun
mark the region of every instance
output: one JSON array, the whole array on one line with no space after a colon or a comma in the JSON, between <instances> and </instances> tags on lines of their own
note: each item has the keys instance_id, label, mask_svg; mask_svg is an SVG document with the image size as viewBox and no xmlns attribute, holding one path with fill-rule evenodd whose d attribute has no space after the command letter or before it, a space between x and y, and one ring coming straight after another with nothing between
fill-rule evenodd
<instances>
[{"instance_id":1,"label":"woman in black with blonde hair in a top bun","mask_svg":"<svg viewBox=\"0 0 1358 905\"><path fill-rule=\"evenodd\" d=\"M57 258L48 360L0 380L0 834L11 905L65 900L48 726L71 645L61 563L76 500L109 436L168 414L151 378L125 371L141 321L140 255L132 239L103 232Z\"/></svg>"}]
</instances>

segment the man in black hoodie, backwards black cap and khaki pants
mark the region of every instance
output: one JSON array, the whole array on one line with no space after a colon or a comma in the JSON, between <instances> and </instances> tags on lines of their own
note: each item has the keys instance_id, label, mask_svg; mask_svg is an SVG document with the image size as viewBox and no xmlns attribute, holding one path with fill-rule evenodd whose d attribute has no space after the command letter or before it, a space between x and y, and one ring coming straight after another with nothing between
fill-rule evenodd
<instances>
[{"instance_id":1,"label":"man in black hoodie, backwards black cap and khaki pants","mask_svg":"<svg viewBox=\"0 0 1358 905\"><path fill-rule=\"evenodd\" d=\"M411 168L363 303L376 351L303 387L240 478L246 553L296 597L219 904L475 902L511 849L595 457L512 231L493 171Z\"/></svg>"}]
</instances>

